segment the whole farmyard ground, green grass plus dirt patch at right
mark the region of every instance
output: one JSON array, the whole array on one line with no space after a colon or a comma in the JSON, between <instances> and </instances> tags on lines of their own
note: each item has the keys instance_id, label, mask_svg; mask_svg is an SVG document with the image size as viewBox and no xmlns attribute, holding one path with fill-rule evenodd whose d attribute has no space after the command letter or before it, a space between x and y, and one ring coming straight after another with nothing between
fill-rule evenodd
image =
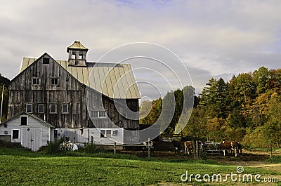
<instances>
[{"instance_id":1,"label":"whole farmyard ground, green grass plus dirt patch at right","mask_svg":"<svg viewBox=\"0 0 281 186\"><path fill-rule=\"evenodd\" d=\"M208 156L207 160L192 160L192 156L174 152L154 152L151 159L140 157L139 151L67 152L46 154L22 148L0 147L0 185L197 185L182 182L181 175L188 173L215 174L236 172L244 166L244 173L261 174L281 179L280 151L268 161L268 152L245 151L239 157ZM213 184L237 185L237 182ZM198 183L210 185L211 182ZM263 185L264 182L239 183ZM270 185L270 184L268 184ZM276 185L276 183L272 183Z\"/></svg>"}]
</instances>

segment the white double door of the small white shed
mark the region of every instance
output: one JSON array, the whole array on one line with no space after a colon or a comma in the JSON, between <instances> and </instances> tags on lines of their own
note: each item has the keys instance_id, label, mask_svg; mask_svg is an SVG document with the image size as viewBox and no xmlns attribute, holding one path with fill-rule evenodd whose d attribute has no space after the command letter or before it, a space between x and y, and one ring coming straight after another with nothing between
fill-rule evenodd
<instances>
[{"instance_id":1,"label":"white double door of the small white shed","mask_svg":"<svg viewBox=\"0 0 281 186\"><path fill-rule=\"evenodd\" d=\"M22 147L37 151L41 147L41 128L22 128Z\"/></svg>"}]
</instances>

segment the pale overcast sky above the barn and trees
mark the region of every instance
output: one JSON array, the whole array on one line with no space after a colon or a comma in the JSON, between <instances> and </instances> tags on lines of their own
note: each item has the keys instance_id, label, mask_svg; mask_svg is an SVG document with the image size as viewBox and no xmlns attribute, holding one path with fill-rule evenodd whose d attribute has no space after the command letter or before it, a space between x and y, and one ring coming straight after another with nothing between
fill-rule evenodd
<instances>
[{"instance_id":1,"label":"pale overcast sky above the barn and trees","mask_svg":"<svg viewBox=\"0 0 281 186\"><path fill-rule=\"evenodd\" d=\"M281 67L280 12L279 0L2 1L0 73L13 79L23 57L45 52L66 60L74 40L89 48L89 61L124 44L149 42L176 53L200 93L211 77Z\"/></svg>"}]
</instances>

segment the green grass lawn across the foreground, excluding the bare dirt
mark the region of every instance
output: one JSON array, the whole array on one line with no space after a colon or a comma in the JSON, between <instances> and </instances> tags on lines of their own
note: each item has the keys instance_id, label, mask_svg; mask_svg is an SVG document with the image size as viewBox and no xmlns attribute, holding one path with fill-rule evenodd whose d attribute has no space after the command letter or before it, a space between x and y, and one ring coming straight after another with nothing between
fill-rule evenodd
<instances>
[{"instance_id":1,"label":"green grass lawn across the foreground, excluding the bare dirt","mask_svg":"<svg viewBox=\"0 0 281 186\"><path fill-rule=\"evenodd\" d=\"M152 185L181 183L188 173L236 173L236 166L215 161L167 161L100 153L49 155L0 147L0 185ZM245 168L244 173L280 175L262 168ZM192 182L191 185L195 185ZM209 185L208 183L202 183Z\"/></svg>"}]
</instances>

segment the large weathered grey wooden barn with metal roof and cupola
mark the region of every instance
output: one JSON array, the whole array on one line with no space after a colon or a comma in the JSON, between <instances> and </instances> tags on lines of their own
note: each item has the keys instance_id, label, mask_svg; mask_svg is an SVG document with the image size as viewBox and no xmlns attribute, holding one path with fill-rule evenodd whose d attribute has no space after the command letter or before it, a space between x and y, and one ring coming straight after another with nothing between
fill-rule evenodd
<instances>
[{"instance_id":1,"label":"large weathered grey wooden barn with metal roof and cupola","mask_svg":"<svg viewBox=\"0 0 281 186\"><path fill-rule=\"evenodd\" d=\"M119 132L122 142L137 140L138 117L128 115L138 112L141 96L131 65L88 62L87 51L74 41L68 60L48 53L23 58L20 74L8 84L8 119L26 112L55 128L99 128L96 138L112 138L117 129L110 128L122 128L132 131Z\"/></svg>"}]
</instances>

